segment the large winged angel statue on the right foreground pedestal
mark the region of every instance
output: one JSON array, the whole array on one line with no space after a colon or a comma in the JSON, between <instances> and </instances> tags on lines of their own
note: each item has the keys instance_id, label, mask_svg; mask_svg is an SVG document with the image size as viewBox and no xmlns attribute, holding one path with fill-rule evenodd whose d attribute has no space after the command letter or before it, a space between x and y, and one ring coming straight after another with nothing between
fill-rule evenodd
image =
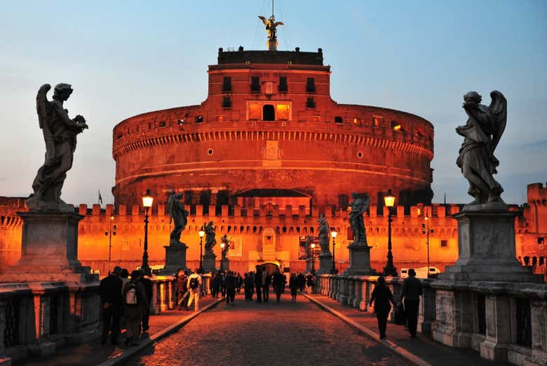
<instances>
[{"instance_id":1,"label":"large winged angel statue on the right foreground pedestal","mask_svg":"<svg viewBox=\"0 0 547 366\"><path fill-rule=\"evenodd\" d=\"M500 197L504 188L493 175L499 165L494 150L507 122L507 100L499 91L492 91L490 97L492 103L487 107L480 104L482 97L479 93L466 93L463 107L469 118L465 126L456 129L459 135L464 136L456 164L469 181L468 194L475 198L466 204L464 210L506 208Z\"/></svg>"}]
</instances>

